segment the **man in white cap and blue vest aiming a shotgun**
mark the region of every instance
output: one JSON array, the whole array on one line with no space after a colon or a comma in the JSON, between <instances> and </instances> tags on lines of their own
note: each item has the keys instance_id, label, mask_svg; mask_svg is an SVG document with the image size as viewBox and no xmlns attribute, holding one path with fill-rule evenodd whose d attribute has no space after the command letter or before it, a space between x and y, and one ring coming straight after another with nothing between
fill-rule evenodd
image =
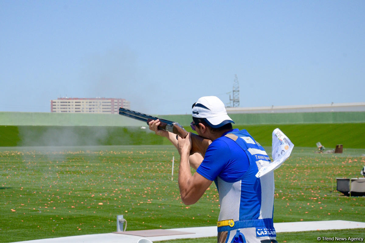
<instances>
[{"instance_id":1,"label":"man in white cap and blue vest aiming a shotgun","mask_svg":"<svg viewBox=\"0 0 365 243\"><path fill-rule=\"evenodd\" d=\"M233 129L223 102L205 96L192 106L198 135L213 142L205 152L191 154L191 134L183 139L158 130L160 121L149 122L150 130L172 142L180 154L178 184L184 204L194 204L214 181L219 193L218 242L277 242L273 226L273 171L257 178L258 170L270 163L264 148L246 130ZM190 166L196 169L191 174Z\"/></svg>"}]
</instances>

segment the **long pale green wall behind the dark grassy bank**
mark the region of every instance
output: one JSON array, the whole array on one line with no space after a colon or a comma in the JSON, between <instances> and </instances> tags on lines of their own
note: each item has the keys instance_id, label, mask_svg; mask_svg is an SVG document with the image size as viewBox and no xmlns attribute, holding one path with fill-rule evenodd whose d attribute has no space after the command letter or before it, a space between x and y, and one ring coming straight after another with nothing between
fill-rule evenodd
<instances>
[{"instance_id":1,"label":"long pale green wall behind the dark grassy bank","mask_svg":"<svg viewBox=\"0 0 365 243\"><path fill-rule=\"evenodd\" d=\"M308 112L229 114L237 125L364 123L365 112ZM189 126L191 115L154 115ZM147 124L119 114L0 112L0 126L104 126L130 127Z\"/></svg>"}]
</instances>

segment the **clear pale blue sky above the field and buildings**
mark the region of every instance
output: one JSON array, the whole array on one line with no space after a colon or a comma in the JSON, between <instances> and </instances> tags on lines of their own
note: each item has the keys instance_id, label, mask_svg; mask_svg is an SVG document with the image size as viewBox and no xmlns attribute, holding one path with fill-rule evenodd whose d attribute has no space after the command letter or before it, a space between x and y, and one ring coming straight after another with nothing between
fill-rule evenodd
<instances>
[{"instance_id":1,"label":"clear pale blue sky above the field and buildings","mask_svg":"<svg viewBox=\"0 0 365 243\"><path fill-rule=\"evenodd\" d=\"M151 114L363 102L365 1L0 1L0 111L116 97Z\"/></svg>"}]
</instances>

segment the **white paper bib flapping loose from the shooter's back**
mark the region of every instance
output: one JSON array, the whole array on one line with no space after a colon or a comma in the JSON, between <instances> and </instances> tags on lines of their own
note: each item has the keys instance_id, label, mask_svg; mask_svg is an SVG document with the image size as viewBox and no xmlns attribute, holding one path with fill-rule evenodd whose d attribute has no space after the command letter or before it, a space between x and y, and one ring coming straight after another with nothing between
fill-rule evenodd
<instances>
[{"instance_id":1,"label":"white paper bib flapping loose from the shooter's back","mask_svg":"<svg viewBox=\"0 0 365 243\"><path fill-rule=\"evenodd\" d=\"M272 157L273 162L261 169L255 175L257 178L273 171L281 166L293 150L294 144L279 128L273 131Z\"/></svg>"}]
</instances>

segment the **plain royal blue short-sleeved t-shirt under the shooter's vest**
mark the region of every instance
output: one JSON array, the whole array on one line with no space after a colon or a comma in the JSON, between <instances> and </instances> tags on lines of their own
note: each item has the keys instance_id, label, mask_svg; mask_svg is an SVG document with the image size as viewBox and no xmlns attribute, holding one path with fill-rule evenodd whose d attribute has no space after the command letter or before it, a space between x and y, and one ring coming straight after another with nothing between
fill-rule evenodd
<instances>
[{"instance_id":1,"label":"plain royal blue short-sleeved t-shirt under the shooter's vest","mask_svg":"<svg viewBox=\"0 0 365 243\"><path fill-rule=\"evenodd\" d=\"M232 139L224 136L236 131L239 130L227 131L210 144L196 172L208 180L215 180L219 176L226 182L236 182L245 174L250 165L245 151Z\"/></svg>"}]
</instances>

